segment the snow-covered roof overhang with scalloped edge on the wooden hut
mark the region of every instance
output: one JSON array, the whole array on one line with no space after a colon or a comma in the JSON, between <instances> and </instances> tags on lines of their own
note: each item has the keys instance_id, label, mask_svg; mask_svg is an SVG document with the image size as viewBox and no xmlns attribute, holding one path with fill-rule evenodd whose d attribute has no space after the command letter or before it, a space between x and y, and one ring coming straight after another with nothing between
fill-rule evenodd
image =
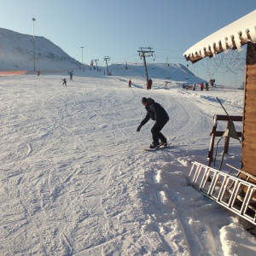
<instances>
[{"instance_id":1,"label":"snow-covered roof overhang with scalloped edge on the wooden hut","mask_svg":"<svg viewBox=\"0 0 256 256\"><path fill-rule=\"evenodd\" d=\"M215 56L229 49L241 51L247 42L256 43L256 9L241 19L224 26L183 53L187 61L196 62L202 58Z\"/></svg>"}]
</instances>

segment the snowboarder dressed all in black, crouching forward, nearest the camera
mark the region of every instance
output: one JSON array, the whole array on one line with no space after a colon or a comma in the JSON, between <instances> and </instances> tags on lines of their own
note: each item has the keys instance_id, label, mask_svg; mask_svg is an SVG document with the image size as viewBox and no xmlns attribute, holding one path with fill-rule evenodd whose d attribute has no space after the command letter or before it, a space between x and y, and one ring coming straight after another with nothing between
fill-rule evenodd
<instances>
[{"instance_id":1,"label":"snowboarder dressed all in black, crouching forward, nearest the camera","mask_svg":"<svg viewBox=\"0 0 256 256\"><path fill-rule=\"evenodd\" d=\"M166 110L159 103L154 102L152 98L147 99L143 97L142 103L148 113L141 124L138 125L137 131L140 131L142 126L151 118L155 121L155 124L151 129L153 143L150 144L149 148L159 148L162 145L167 146L166 137L160 131L169 120L168 113L166 113Z\"/></svg>"}]
</instances>

